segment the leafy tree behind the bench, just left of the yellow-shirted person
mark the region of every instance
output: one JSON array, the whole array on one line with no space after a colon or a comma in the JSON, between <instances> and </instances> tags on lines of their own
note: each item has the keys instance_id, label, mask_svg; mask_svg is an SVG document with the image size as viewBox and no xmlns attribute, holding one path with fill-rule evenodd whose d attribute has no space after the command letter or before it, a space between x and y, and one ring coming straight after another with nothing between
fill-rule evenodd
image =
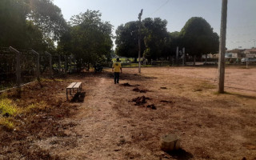
<instances>
[{"instance_id":1,"label":"leafy tree behind the bench, just left of the yellow-shirted person","mask_svg":"<svg viewBox=\"0 0 256 160\"><path fill-rule=\"evenodd\" d=\"M63 34L58 43L59 50L73 54L78 69L96 62L110 59L112 25L102 22L99 11L87 10L70 19L70 30Z\"/></svg>"}]
</instances>

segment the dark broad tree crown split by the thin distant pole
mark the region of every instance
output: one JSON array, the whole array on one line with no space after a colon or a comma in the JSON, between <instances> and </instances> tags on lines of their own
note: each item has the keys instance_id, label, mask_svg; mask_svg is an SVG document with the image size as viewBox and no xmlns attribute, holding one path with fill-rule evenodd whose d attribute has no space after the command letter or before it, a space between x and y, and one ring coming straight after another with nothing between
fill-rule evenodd
<instances>
[{"instance_id":1,"label":"dark broad tree crown split by the thin distant pole","mask_svg":"<svg viewBox=\"0 0 256 160\"><path fill-rule=\"evenodd\" d=\"M116 53L130 58L138 58L138 25L139 22L127 22L116 30ZM170 41L166 30L167 22L161 18L145 18L142 21L142 52L149 59L166 56Z\"/></svg>"}]
</instances>

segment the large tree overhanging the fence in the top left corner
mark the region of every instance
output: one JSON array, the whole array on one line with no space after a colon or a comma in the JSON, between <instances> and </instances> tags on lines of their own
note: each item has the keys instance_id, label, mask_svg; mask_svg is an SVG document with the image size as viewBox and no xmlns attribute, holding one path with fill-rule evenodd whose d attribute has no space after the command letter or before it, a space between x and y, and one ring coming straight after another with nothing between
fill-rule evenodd
<instances>
[{"instance_id":1,"label":"large tree overhanging the fence in the top left corner","mask_svg":"<svg viewBox=\"0 0 256 160\"><path fill-rule=\"evenodd\" d=\"M1 0L0 21L0 46L49 46L49 38L57 40L66 30L61 10L51 0Z\"/></svg>"}]
</instances>

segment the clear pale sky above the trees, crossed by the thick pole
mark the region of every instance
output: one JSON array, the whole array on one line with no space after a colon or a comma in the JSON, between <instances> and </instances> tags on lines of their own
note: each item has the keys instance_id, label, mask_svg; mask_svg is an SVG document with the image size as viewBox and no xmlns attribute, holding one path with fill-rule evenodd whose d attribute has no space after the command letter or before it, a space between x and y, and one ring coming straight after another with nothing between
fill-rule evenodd
<instances>
[{"instance_id":1,"label":"clear pale sky above the trees, crossed by the thick pole","mask_svg":"<svg viewBox=\"0 0 256 160\"><path fill-rule=\"evenodd\" d=\"M205 18L214 32L220 33L222 0L54 0L61 8L66 20L72 15L89 10L100 10L102 20L114 26L142 19L166 19L169 32L180 31L191 17ZM226 47L255 47L256 40L256 0L229 0L227 18Z\"/></svg>"}]
</instances>

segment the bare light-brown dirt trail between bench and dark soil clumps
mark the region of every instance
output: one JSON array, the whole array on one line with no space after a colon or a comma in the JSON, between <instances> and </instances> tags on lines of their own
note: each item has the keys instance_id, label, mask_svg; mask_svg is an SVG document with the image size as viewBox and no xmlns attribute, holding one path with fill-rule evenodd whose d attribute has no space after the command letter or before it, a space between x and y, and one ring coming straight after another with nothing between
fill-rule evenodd
<instances>
[{"instance_id":1,"label":"bare light-brown dirt trail between bench and dark soil clumps","mask_svg":"<svg viewBox=\"0 0 256 160\"><path fill-rule=\"evenodd\" d=\"M95 86L85 85L85 102L77 115L66 120L78 125L66 132L78 138L76 147L56 147L54 154L66 159L123 159L125 155L120 150L133 150L122 146L127 141L129 126L114 110L118 95L123 94L120 93L122 86L114 85L113 80L106 76L94 78Z\"/></svg>"}]
</instances>

